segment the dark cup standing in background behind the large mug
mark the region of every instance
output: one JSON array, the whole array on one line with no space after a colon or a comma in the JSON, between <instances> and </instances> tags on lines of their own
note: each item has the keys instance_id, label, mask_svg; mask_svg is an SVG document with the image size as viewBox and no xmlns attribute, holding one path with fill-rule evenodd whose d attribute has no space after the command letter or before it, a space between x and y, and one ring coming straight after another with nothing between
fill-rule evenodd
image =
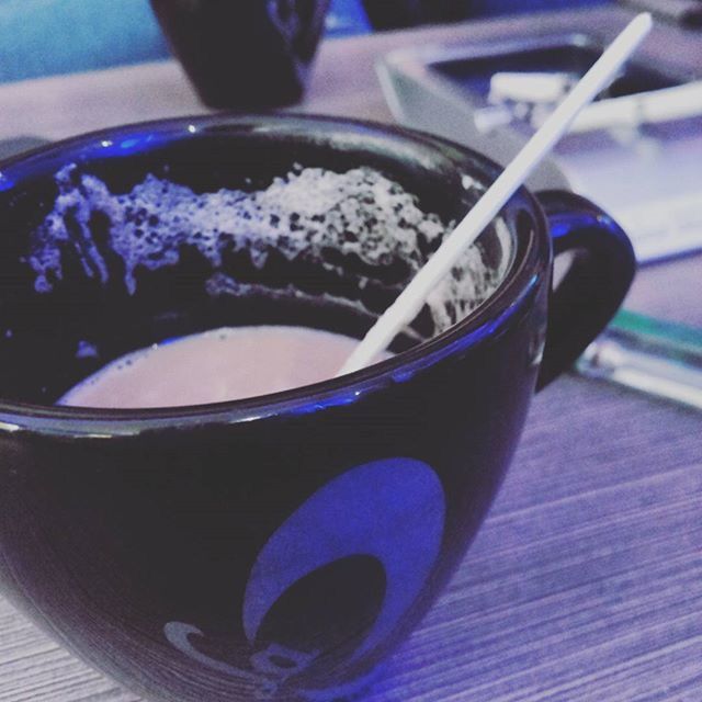
<instances>
[{"instance_id":1,"label":"dark cup standing in background behind the large mug","mask_svg":"<svg viewBox=\"0 0 702 702\"><path fill-rule=\"evenodd\" d=\"M211 107L297 102L329 0L150 0L201 100Z\"/></svg>"}]
</instances>

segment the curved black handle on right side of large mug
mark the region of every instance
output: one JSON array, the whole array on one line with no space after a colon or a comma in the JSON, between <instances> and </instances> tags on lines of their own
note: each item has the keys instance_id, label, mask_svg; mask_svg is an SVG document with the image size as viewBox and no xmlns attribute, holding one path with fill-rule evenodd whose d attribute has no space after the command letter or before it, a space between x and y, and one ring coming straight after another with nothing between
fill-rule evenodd
<instances>
[{"instance_id":1,"label":"curved black handle on right side of large mug","mask_svg":"<svg viewBox=\"0 0 702 702\"><path fill-rule=\"evenodd\" d=\"M548 329L536 390L570 367L624 301L636 272L629 237L590 201L565 191L536 194L554 257L573 262L548 301Z\"/></svg>"}]
</instances>

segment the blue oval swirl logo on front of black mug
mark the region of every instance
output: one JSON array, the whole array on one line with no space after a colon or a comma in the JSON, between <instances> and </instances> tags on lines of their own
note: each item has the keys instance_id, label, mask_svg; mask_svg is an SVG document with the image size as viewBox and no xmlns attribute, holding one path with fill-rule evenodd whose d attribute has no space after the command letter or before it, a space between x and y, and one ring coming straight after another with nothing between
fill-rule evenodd
<instances>
[{"instance_id":1,"label":"blue oval swirl logo on front of black mug","mask_svg":"<svg viewBox=\"0 0 702 702\"><path fill-rule=\"evenodd\" d=\"M365 622L363 630L352 636L355 650L347 660L353 664L398 626L422 591L439 556L444 518L443 487L427 463L396 457L351 468L297 508L259 553L241 612L244 632L251 645L249 669L199 650L197 639L204 641L206 633L194 624L169 622L163 633L171 645L191 659L251 683L257 699L273 698L286 681L330 653L330 646L338 645L338 641L330 644L329 636L320 633L315 622L328 623L331 619L333 626L330 607L339 610L343 621L350 619L343 588L332 602L329 598L308 596L307 610L324 612L315 618L314 612L306 610L306 615L298 618L298 625L302 622L304 627L309 622L312 631L295 632L296 641L303 645L293 646L290 641L274 641L275 632L271 634L271 627L267 626L280 603L293 591L298 595L293 601L305 601L304 593L299 597L301 588L314 589L315 578L324 579L325 573L344 562L365 566L366 575L374 571L369 564L375 571L380 566L381 577L375 577L375 588L370 588L376 591L378 607L373 621ZM268 645L261 649L257 643L263 629L268 630L264 637ZM286 636L284 632L280 635ZM347 632L342 637L343 643L348 635ZM333 698L340 692L341 689L299 691L310 700Z\"/></svg>"}]
</instances>

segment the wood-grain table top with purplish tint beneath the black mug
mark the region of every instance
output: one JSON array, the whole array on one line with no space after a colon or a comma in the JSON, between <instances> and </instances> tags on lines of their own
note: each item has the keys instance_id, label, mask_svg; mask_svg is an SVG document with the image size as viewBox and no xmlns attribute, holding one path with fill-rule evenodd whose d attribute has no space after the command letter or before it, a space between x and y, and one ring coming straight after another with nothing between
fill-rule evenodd
<instances>
[{"instance_id":1,"label":"wood-grain table top with purplish tint beneath the black mug","mask_svg":"<svg viewBox=\"0 0 702 702\"><path fill-rule=\"evenodd\" d=\"M301 109L390 121L374 59L476 32L327 42ZM0 106L0 138L49 139L204 111L172 61L3 86ZM701 299L697 256L642 270L627 306L702 327ZM462 567L364 699L700 702L702 416L574 375L537 396ZM0 702L137 700L0 599Z\"/></svg>"}]
</instances>

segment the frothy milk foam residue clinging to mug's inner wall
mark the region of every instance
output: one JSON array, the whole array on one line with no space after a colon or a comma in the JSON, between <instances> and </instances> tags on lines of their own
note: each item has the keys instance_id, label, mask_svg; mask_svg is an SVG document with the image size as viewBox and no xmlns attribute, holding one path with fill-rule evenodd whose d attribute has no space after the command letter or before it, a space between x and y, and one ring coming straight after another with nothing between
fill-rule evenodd
<instances>
[{"instance_id":1,"label":"frothy milk foam residue clinging to mug's inner wall","mask_svg":"<svg viewBox=\"0 0 702 702\"><path fill-rule=\"evenodd\" d=\"M29 261L38 292L50 292L63 278L61 258L70 250L86 275L107 283L105 251L124 262L124 285L137 287L140 269L177 265L183 247L195 248L211 264L213 295L240 294L261 285L242 283L225 270L225 253L246 252L264 271L278 251L288 262L314 262L354 290L385 290L388 299L426 263L450 231L437 214L424 213L416 196L381 172L354 168L337 173L295 168L265 189L195 193L190 188L147 176L127 193L70 165L56 173L59 194L52 213L34 233ZM498 220L498 235L508 240ZM113 256L113 253L111 253ZM278 257L280 258L280 257ZM505 256L507 265L508 257ZM434 331L463 318L488 297L503 270L486 267L473 247L428 301ZM279 295L310 296L288 286ZM335 291L318 296L335 299ZM367 298L367 297L366 297ZM340 299L363 306L360 299ZM374 314L378 309L370 309Z\"/></svg>"}]
</instances>

